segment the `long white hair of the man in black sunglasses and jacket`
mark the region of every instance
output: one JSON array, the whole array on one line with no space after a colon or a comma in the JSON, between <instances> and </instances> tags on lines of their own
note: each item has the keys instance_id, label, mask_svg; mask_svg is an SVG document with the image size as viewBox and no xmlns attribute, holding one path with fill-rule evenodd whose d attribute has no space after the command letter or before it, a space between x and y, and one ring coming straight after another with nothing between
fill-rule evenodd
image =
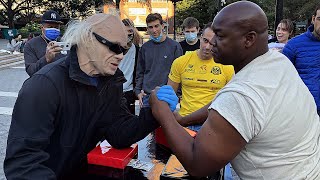
<instances>
[{"instance_id":1,"label":"long white hair of the man in black sunglasses and jacket","mask_svg":"<svg viewBox=\"0 0 320 180\"><path fill-rule=\"evenodd\" d=\"M110 14L101 15L99 18L88 18L86 20L74 20L70 21L67 24L67 30L65 31L62 41L66 43L70 43L71 46L73 45L80 45L80 44L89 44L93 42L93 35L92 29L96 25L100 24L101 22L105 21Z\"/></svg>"}]
</instances>

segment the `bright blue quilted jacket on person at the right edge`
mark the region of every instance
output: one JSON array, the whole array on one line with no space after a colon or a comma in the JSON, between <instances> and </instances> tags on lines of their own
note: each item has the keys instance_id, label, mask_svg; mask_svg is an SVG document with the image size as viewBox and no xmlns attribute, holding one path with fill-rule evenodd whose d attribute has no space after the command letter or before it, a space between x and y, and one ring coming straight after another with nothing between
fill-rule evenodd
<instances>
[{"instance_id":1,"label":"bright blue quilted jacket on person at the right edge","mask_svg":"<svg viewBox=\"0 0 320 180\"><path fill-rule=\"evenodd\" d=\"M291 39L283 49L296 67L301 79L313 95L318 111L320 110L320 40L313 34L314 26L308 31Z\"/></svg>"}]
</instances>

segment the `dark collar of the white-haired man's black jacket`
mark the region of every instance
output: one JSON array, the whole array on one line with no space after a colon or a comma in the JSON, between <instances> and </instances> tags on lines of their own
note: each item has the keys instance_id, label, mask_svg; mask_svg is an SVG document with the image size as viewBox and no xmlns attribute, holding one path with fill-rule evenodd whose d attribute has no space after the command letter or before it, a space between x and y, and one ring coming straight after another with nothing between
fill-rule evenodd
<instances>
[{"instance_id":1,"label":"dark collar of the white-haired man's black jacket","mask_svg":"<svg viewBox=\"0 0 320 180\"><path fill-rule=\"evenodd\" d=\"M98 87L98 85L105 84L112 79L125 82L124 75L119 69L117 69L113 76L91 77L84 73L79 66L76 45L71 47L69 55L66 58L66 65L69 67L69 77L85 85Z\"/></svg>"}]
</instances>

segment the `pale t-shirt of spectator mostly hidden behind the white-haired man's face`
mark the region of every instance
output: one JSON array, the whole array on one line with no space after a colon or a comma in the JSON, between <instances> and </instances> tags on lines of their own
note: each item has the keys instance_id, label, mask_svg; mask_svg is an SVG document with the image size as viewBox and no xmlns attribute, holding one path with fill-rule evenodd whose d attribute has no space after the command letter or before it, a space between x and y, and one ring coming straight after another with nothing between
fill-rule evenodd
<instances>
[{"instance_id":1,"label":"pale t-shirt of spectator mostly hidden behind the white-haired man's face","mask_svg":"<svg viewBox=\"0 0 320 180\"><path fill-rule=\"evenodd\" d=\"M136 46L132 45L119 64L119 69L123 72L127 82L123 83L123 92L133 90L133 70L136 58Z\"/></svg>"}]
</instances>

